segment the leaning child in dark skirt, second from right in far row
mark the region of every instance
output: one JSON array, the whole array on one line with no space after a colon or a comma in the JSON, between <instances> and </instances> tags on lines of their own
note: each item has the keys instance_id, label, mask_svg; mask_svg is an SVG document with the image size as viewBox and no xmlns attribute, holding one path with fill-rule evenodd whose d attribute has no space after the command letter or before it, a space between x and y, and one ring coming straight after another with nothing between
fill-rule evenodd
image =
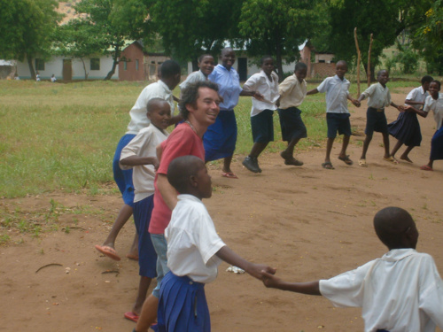
<instances>
[{"instance_id":1,"label":"leaning child in dark skirt, second from right in far row","mask_svg":"<svg viewBox=\"0 0 443 332\"><path fill-rule=\"evenodd\" d=\"M424 105L424 99L429 96L427 91L432 80L433 79L431 76L424 76L422 78L422 86L409 92L408 97L406 97L405 104L410 104L416 110L419 110L420 107ZM412 163L412 160L409 159L408 154L412 149L414 149L415 146L420 146L420 143L422 142L420 123L418 123L416 114L416 112L400 112L397 120L388 125L389 134L398 140L392 149L392 158L395 158L395 153L399 151L401 145L405 144L408 146L408 148L400 156L400 159ZM420 113L418 114L420 115Z\"/></svg>"}]
</instances>

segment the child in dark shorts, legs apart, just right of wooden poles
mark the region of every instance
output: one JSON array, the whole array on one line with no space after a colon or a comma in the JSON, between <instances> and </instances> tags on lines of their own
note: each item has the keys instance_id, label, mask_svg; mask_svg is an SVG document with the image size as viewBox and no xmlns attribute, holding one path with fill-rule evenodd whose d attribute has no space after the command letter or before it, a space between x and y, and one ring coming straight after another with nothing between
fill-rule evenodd
<instances>
[{"instance_id":1,"label":"child in dark shorts, legs apart, just right of wooden poles","mask_svg":"<svg viewBox=\"0 0 443 332\"><path fill-rule=\"evenodd\" d=\"M366 137L363 142L363 151L361 152L361 158L359 160L359 166L361 167L368 167L366 163L366 152L368 151L374 131L382 133L383 135L383 144L385 146L385 156L383 158L395 165L399 163L396 158L393 158L389 154L389 133L385 107L392 105L399 110L399 112L404 112L404 108L391 101L391 93L386 87L386 83L389 81L389 73L386 70L378 71L377 81L378 83L372 84L358 98L358 101L361 102L364 98L369 97L368 111L366 112L366 129L364 132Z\"/></svg>"}]
</instances>

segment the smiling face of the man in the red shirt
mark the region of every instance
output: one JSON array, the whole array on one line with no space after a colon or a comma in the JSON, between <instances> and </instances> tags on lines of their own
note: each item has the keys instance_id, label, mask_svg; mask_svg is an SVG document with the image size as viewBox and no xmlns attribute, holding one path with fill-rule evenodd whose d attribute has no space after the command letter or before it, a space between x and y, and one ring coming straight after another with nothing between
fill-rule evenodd
<instances>
[{"instance_id":1,"label":"smiling face of the man in the red shirt","mask_svg":"<svg viewBox=\"0 0 443 332\"><path fill-rule=\"evenodd\" d=\"M217 91L202 87L198 89L195 106L187 104L190 115L200 126L208 127L215 122L220 112L220 97Z\"/></svg>"}]
</instances>

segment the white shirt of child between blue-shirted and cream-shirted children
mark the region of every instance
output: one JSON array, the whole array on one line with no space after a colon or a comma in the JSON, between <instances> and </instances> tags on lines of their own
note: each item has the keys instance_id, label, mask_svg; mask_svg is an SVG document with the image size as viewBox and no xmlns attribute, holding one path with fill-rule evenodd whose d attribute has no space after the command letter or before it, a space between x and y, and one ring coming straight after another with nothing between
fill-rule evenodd
<instances>
[{"instance_id":1,"label":"white shirt of child between blue-shirted and cream-shirted children","mask_svg":"<svg viewBox=\"0 0 443 332\"><path fill-rule=\"evenodd\" d=\"M272 81L269 81L268 75L262 70L260 73L254 73L248 81L245 82L243 89L246 91L257 91L263 95L264 100L260 101L253 97L253 107L251 116L259 114L264 110L276 110L276 101L278 99L278 75L271 73Z\"/></svg>"}]
</instances>

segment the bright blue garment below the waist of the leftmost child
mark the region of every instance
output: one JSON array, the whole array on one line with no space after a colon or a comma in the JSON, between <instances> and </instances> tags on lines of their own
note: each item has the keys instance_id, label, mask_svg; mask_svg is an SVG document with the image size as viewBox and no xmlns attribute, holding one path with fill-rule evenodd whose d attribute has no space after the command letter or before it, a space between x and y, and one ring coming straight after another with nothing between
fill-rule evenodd
<instances>
[{"instance_id":1,"label":"bright blue garment below the waist of the leftmost child","mask_svg":"<svg viewBox=\"0 0 443 332\"><path fill-rule=\"evenodd\" d=\"M123 202L126 205L134 207L134 184L132 183L132 168L121 169L120 168L120 154L125 146L128 145L132 139L136 137L133 134L126 134L120 138L120 142L117 145L115 154L113 155L113 180L117 183L120 189L120 193L123 196Z\"/></svg>"}]
</instances>

